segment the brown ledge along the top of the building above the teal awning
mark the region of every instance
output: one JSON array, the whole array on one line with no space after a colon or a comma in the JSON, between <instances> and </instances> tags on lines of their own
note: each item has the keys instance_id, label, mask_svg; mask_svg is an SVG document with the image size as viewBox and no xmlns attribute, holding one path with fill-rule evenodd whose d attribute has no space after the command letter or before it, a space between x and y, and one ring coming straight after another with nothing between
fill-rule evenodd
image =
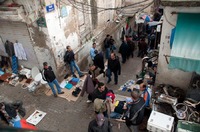
<instances>
[{"instance_id":1,"label":"brown ledge along the top of the building above the teal awning","mask_svg":"<svg viewBox=\"0 0 200 132\"><path fill-rule=\"evenodd\" d=\"M200 0L161 0L161 5L172 7L198 7L200 6Z\"/></svg>"}]
</instances>

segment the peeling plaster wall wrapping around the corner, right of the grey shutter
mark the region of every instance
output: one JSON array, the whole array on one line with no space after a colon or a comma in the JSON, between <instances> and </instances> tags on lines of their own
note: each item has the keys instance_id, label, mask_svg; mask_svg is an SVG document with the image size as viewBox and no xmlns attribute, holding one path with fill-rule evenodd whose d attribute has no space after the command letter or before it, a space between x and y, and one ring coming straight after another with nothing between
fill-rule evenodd
<instances>
[{"instance_id":1,"label":"peeling plaster wall wrapping around the corner, right of the grey shutter","mask_svg":"<svg viewBox=\"0 0 200 132\"><path fill-rule=\"evenodd\" d=\"M26 17L23 21L27 23L39 69L42 69L42 63L47 61L54 71L58 72L58 75L65 74L63 56L66 46L70 45L83 70L88 63L91 63L89 51L93 40L96 40L98 49L101 49L106 34L112 34L114 39L118 39L120 36L118 29L115 28L120 26L114 22L116 13L113 10L94 14L97 10L90 8L92 13L84 13L73 8L67 0L62 2L57 0L16 0L15 2L23 5L25 10ZM122 1L118 0L80 0L80 2L105 8L122 6ZM47 12L46 6L51 4L54 4L55 10ZM61 14L63 8L66 11L65 16ZM46 28L38 27L36 24L40 16L45 17ZM119 31L121 32L121 29Z\"/></svg>"}]
</instances>

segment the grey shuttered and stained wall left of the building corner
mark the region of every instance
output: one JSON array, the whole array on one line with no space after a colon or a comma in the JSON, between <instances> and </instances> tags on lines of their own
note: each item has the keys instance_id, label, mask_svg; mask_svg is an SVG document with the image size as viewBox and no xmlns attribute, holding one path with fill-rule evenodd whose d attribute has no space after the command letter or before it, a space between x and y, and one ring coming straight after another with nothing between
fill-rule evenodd
<instances>
[{"instance_id":1,"label":"grey shuttered and stained wall left of the building corner","mask_svg":"<svg viewBox=\"0 0 200 132\"><path fill-rule=\"evenodd\" d=\"M2 6L7 6L12 2L13 1L8 0ZM18 24L19 22L12 22L15 20L15 16L10 14L9 17L12 18L8 21L10 25L8 27L6 24L1 26L4 26L3 28L7 28L7 30L5 30L4 39L10 38L9 40L12 42L18 40L24 46L28 61L20 60L19 65L23 65L27 68L36 66L39 69L42 69L42 63L47 61L52 65L53 68L55 68L55 59L52 59L54 55L52 55L51 50L49 50L48 46L46 45L49 43L47 41L48 34L45 34L47 33L47 28L39 28L36 25L36 20L42 14L40 12L43 8L43 4L38 0L15 0L14 2L22 5L21 7L23 7L23 12L26 16L22 17L21 21L24 23ZM10 30L13 31L10 33Z\"/></svg>"}]
</instances>

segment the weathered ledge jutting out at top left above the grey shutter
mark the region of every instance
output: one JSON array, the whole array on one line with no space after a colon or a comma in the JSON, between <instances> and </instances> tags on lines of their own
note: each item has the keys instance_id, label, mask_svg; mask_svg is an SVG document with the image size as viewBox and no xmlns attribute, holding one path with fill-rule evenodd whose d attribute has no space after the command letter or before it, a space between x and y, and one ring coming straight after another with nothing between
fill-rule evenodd
<instances>
[{"instance_id":1,"label":"weathered ledge jutting out at top left above the grey shutter","mask_svg":"<svg viewBox=\"0 0 200 132\"><path fill-rule=\"evenodd\" d=\"M9 21L24 21L25 13L22 6L3 7L0 6L0 19Z\"/></svg>"}]
</instances>

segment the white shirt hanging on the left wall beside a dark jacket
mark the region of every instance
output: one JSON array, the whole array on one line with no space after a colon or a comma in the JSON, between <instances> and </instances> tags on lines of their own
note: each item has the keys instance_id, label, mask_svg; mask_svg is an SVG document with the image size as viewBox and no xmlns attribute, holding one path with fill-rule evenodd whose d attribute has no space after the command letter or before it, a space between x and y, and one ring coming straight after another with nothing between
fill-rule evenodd
<instances>
[{"instance_id":1,"label":"white shirt hanging on the left wall beside a dark jacket","mask_svg":"<svg viewBox=\"0 0 200 132\"><path fill-rule=\"evenodd\" d=\"M15 50L15 56L19 60L27 60L26 52L25 52L22 44L18 43L18 41L16 41L16 43L14 43L14 50Z\"/></svg>"}]
</instances>

